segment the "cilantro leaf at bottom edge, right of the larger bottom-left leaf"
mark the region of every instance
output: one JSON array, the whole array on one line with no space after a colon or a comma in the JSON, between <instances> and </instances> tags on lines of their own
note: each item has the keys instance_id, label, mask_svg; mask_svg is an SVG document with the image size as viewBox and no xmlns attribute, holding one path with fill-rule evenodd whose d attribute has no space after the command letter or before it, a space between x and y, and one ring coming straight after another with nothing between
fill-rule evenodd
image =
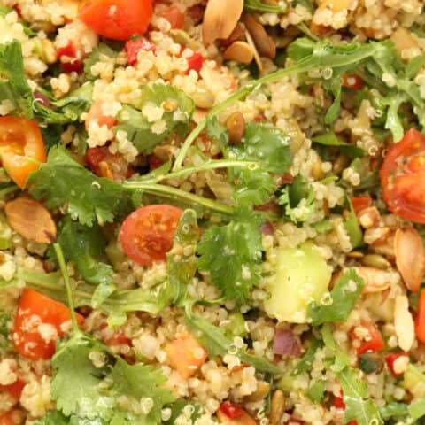
<instances>
[{"instance_id":1,"label":"cilantro leaf at bottom edge, right of the larger bottom-left leaf","mask_svg":"<svg viewBox=\"0 0 425 425\"><path fill-rule=\"evenodd\" d=\"M148 365L136 363L129 365L125 360L116 358L115 366L110 375L112 378L112 393L116 397L125 395L140 403L142 398L151 398L153 407L147 415L124 414L128 423L138 423L137 420L161 422L161 410L167 403L174 401L174 394L170 388L164 388L166 376L161 370L155 370ZM140 417L142 416L142 417ZM148 422L149 423L149 422Z\"/></svg>"}]
</instances>

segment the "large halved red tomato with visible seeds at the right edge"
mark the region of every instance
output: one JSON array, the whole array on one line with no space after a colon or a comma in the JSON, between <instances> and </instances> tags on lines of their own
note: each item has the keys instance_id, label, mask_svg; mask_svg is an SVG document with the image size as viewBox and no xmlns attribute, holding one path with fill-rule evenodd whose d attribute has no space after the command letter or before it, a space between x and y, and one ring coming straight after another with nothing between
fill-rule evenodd
<instances>
[{"instance_id":1,"label":"large halved red tomato with visible seeds at the right edge","mask_svg":"<svg viewBox=\"0 0 425 425\"><path fill-rule=\"evenodd\" d=\"M425 223L425 135L415 128L393 144L381 168L383 200L399 217Z\"/></svg>"}]
</instances>

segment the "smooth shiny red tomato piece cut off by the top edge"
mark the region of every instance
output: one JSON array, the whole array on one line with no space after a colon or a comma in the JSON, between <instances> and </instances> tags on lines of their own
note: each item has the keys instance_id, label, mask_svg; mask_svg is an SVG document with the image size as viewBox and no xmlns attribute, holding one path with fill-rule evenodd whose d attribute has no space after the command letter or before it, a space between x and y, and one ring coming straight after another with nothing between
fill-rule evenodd
<instances>
[{"instance_id":1,"label":"smooth shiny red tomato piece cut off by the top edge","mask_svg":"<svg viewBox=\"0 0 425 425\"><path fill-rule=\"evenodd\" d=\"M98 35L126 41L143 35L149 27L153 0L88 0L80 9L80 19Z\"/></svg>"}]
</instances>

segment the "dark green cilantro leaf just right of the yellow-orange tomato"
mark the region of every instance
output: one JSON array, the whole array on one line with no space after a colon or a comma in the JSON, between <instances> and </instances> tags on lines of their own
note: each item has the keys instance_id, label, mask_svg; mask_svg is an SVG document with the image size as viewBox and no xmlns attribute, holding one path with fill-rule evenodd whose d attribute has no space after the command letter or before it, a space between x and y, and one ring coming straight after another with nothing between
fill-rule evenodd
<instances>
[{"instance_id":1,"label":"dark green cilantro leaf just right of the yellow-orange tomato","mask_svg":"<svg viewBox=\"0 0 425 425\"><path fill-rule=\"evenodd\" d=\"M63 146L52 147L47 163L27 180L35 199L49 208L67 206L67 212L81 224L92 226L112 222L129 209L128 191L108 179L98 178L71 158Z\"/></svg>"}]
</instances>

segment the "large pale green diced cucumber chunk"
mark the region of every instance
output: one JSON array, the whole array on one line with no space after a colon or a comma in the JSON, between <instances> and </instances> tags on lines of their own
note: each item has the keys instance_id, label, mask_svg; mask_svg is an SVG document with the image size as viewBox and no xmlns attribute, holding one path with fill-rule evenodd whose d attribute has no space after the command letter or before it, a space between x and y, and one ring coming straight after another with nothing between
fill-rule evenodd
<instances>
[{"instance_id":1,"label":"large pale green diced cucumber chunk","mask_svg":"<svg viewBox=\"0 0 425 425\"><path fill-rule=\"evenodd\" d=\"M282 248L275 264L275 274L266 284L270 294L264 303L266 313L278 321L305 323L307 305L312 300L319 303L328 290L332 267L313 243Z\"/></svg>"}]
</instances>

